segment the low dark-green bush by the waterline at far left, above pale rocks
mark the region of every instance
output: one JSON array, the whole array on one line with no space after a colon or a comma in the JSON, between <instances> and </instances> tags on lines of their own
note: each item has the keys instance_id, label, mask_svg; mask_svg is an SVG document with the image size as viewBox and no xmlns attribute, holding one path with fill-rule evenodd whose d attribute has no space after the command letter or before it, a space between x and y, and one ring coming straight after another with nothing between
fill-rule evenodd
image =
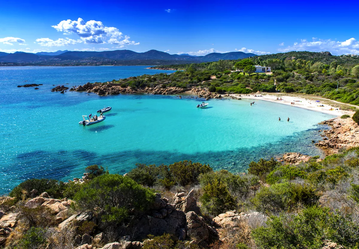
<instances>
[{"instance_id":1,"label":"low dark-green bush by the waterline at far left, above pale rocks","mask_svg":"<svg viewBox=\"0 0 359 249\"><path fill-rule=\"evenodd\" d=\"M33 189L36 189L38 193L47 192L49 195L54 198L61 198L62 191L65 188L65 184L61 181L53 179L29 179L18 186L16 186L10 193L9 196L16 197L17 200L22 200L22 198L28 198L29 192Z\"/></svg>"}]
</instances>

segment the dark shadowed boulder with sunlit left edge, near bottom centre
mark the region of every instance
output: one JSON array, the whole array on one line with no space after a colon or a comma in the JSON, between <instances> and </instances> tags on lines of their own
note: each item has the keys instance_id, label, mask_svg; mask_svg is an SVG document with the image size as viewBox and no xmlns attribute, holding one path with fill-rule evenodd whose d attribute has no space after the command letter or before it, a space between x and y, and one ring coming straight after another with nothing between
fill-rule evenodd
<instances>
[{"instance_id":1,"label":"dark shadowed boulder with sunlit left edge, near bottom centre","mask_svg":"<svg viewBox=\"0 0 359 249\"><path fill-rule=\"evenodd\" d=\"M201 242L201 246L206 246L212 243L212 241L218 239L218 232L208 226L204 219L198 216L194 211L190 211L186 214L188 234L198 238Z\"/></svg>"}]
</instances>

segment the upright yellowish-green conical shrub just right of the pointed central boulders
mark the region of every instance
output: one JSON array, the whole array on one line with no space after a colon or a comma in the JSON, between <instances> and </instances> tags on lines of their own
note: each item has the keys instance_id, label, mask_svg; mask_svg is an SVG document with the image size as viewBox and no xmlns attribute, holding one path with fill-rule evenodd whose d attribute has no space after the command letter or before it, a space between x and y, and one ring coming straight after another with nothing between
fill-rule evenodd
<instances>
[{"instance_id":1,"label":"upright yellowish-green conical shrub just right of the pointed central boulders","mask_svg":"<svg viewBox=\"0 0 359 249\"><path fill-rule=\"evenodd\" d=\"M200 198L202 207L211 215L219 215L236 207L235 199L230 195L225 183L215 177L211 183L203 188Z\"/></svg>"}]
</instances>

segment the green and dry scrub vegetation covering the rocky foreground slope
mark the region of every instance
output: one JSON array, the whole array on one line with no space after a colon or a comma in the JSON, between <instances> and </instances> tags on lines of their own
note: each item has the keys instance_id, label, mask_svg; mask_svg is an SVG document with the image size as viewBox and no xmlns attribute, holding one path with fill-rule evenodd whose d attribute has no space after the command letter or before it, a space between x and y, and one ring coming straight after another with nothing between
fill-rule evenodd
<instances>
[{"instance_id":1,"label":"green and dry scrub vegetation covering the rocky foreground slope","mask_svg":"<svg viewBox=\"0 0 359 249\"><path fill-rule=\"evenodd\" d=\"M314 249L330 241L354 249L359 244L358 167L359 148L351 148L322 161L313 157L298 165L261 159L250 163L247 174L213 171L207 164L182 161L168 166L137 164L126 176L91 166L87 168L91 176L83 184L30 179L10 192L17 202L22 230L13 231L6 248L45 248L48 243L56 245L57 236L63 241L74 238L50 229L54 221L46 207L23 205L33 189L48 191L58 198L72 196L72 212L90 210L101 214L107 224L118 225L146 214L155 192L171 199L176 192L194 189L202 216L208 222L229 210L264 215L243 219L234 224L235 229L222 228L225 239L210 248ZM82 236L95 230L96 225L87 221L74 224L69 233ZM143 248L199 248L189 243L191 235L188 236L186 241L174 241L171 234L149 236Z\"/></svg>"}]
</instances>

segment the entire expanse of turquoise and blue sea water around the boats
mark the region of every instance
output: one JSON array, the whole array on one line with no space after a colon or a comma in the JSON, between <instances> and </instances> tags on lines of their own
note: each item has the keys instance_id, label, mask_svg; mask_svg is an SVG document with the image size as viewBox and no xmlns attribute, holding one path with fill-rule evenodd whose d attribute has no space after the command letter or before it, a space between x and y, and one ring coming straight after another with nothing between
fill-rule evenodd
<instances>
[{"instance_id":1,"label":"entire expanse of turquoise and blue sea water around the boats","mask_svg":"<svg viewBox=\"0 0 359 249\"><path fill-rule=\"evenodd\" d=\"M79 177L90 164L123 174L136 163L188 159L243 172L261 157L321 154L311 141L320 139L317 130L323 126L317 123L333 116L320 112L260 100L250 106L253 100L211 99L209 108L197 109L203 99L187 96L50 91L52 85L157 72L163 71L144 66L0 68L0 192L28 178ZM25 83L44 85L39 90L16 87ZM81 115L94 115L104 106L112 106L106 120L78 124Z\"/></svg>"}]
</instances>

